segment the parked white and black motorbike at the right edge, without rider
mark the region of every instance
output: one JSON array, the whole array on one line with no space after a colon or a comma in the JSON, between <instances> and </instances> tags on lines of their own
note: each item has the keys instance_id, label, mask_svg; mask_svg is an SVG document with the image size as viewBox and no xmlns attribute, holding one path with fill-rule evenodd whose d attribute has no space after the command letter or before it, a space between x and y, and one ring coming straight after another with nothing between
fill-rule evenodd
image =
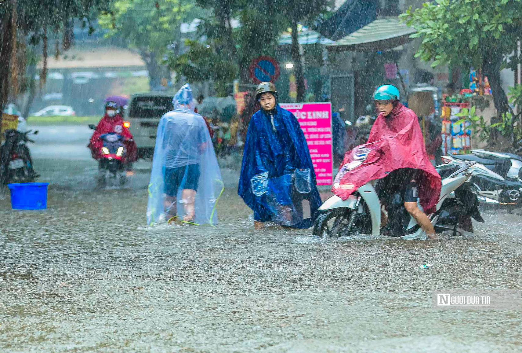
<instances>
[{"instance_id":1,"label":"parked white and black motorbike at the right edge, without rider","mask_svg":"<svg viewBox=\"0 0 522 353\"><path fill-rule=\"evenodd\" d=\"M443 162L458 164L476 162L470 183L482 203L508 207L522 205L522 157L513 153L471 150L471 154L452 154L442 157Z\"/></svg>"}]
</instances>

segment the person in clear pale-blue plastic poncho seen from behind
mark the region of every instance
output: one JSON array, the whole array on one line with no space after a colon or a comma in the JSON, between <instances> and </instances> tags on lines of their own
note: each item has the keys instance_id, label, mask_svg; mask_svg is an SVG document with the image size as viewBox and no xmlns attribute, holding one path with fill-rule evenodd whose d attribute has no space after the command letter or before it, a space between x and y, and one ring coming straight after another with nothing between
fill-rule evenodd
<instances>
[{"instance_id":1,"label":"person in clear pale-blue plastic poncho seen from behind","mask_svg":"<svg viewBox=\"0 0 522 353\"><path fill-rule=\"evenodd\" d=\"M159 122L149 184L147 223L217 223L223 181L210 134L191 87L174 95Z\"/></svg>"}]
</instances>

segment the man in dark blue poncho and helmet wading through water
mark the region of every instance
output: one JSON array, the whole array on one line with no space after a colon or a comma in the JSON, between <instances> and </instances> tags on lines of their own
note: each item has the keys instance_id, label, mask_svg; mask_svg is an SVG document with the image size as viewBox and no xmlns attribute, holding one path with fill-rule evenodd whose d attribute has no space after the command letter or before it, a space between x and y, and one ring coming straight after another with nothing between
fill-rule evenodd
<instances>
[{"instance_id":1,"label":"man in dark blue poncho and helmet wading through water","mask_svg":"<svg viewBox=\"0 0 522 353\"><path fill-rule=\"evenodd\" d=\"M293 228L312 226L321 197L312 158L298 120L277 103L274 84L256 89L262 109L252 115L245 139L238 193L254 211L254 226L275 222ZM303 219L302 200L310 203Z\"/></svg>"}]
</instances>

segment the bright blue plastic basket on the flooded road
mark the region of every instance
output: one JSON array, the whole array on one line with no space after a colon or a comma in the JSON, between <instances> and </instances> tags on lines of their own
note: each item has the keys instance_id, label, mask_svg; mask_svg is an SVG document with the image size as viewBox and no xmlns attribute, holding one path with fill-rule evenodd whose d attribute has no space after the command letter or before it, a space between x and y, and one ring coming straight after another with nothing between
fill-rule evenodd
<instances>
[{"instance_id":1,"label":"bright blue plastic basket on the flooded road","mask_svg":"<svg viewBox=\"0 0 522 353\"><path fill-rule=\"evenodd\" d=\"M7 184L11 193L11 208L14 210L44 210L47 208L49 183Z\"/></svg>"}]
</instances>

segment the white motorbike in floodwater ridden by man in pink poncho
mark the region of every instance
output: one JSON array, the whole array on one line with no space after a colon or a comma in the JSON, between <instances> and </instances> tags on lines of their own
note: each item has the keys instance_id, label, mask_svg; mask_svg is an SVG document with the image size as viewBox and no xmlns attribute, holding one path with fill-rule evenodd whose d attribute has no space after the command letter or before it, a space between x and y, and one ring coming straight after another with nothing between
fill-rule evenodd
<instances>
[{"instance_id":1,"label":"white motorbike in floodwater ridden by man in pink poncho","mask_svg":"<svg viewBox=\"0 0 522 353\"><path fill-rule=\"evenodd\" d=\"M339 169L351 170L361 165L367 158L358 156L357 163L347 163ZM359 163L362 161L361 163ZM473 194L470 183L467 183L471 172L469 168L475 162L460 164L445 164L437 166L437 172L442 177L442 189L436 212L429 215L435 231L461 230L472 232L471 218L484 222L478 206L477 196ZM351 165L350 165L351 164ZM355 165L355 166L354 166ZM372 180L352 193L346 200L334 195L327 199L319 208L319 215L314 225L314 234L321 237L354 236L358 234L381 234L381 199L388 202L388 222L383 234L403 239L418 239L424 234L417 221L411 217L404 207L401 187L396 185L382 192L382 181Z\"/></svg>"}]
</instances>

